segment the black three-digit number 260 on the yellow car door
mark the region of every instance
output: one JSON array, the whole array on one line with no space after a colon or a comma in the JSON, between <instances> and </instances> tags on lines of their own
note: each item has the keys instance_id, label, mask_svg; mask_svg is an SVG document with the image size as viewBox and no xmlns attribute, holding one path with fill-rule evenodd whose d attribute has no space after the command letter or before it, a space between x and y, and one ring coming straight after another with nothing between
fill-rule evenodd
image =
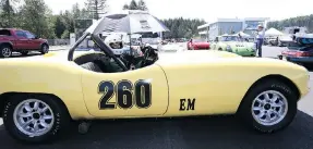
<instances>
[{"instance_id":1,"label":"black three-digit number 260 on the yellow car door","mask_svg":"<svg viewBox=\"0 0 313 149\"><path fill-rule=\"evenodd\" d=\"M98 92L103 94L99 101L99 109L131 109L134 104L140 109L149 108L152 104L152 85L140 79L134 85L130 80L120 80L117 85L113 82L101 82ZM117 94L116 102L109 100Z\"/></svg>"}]
</instances>

